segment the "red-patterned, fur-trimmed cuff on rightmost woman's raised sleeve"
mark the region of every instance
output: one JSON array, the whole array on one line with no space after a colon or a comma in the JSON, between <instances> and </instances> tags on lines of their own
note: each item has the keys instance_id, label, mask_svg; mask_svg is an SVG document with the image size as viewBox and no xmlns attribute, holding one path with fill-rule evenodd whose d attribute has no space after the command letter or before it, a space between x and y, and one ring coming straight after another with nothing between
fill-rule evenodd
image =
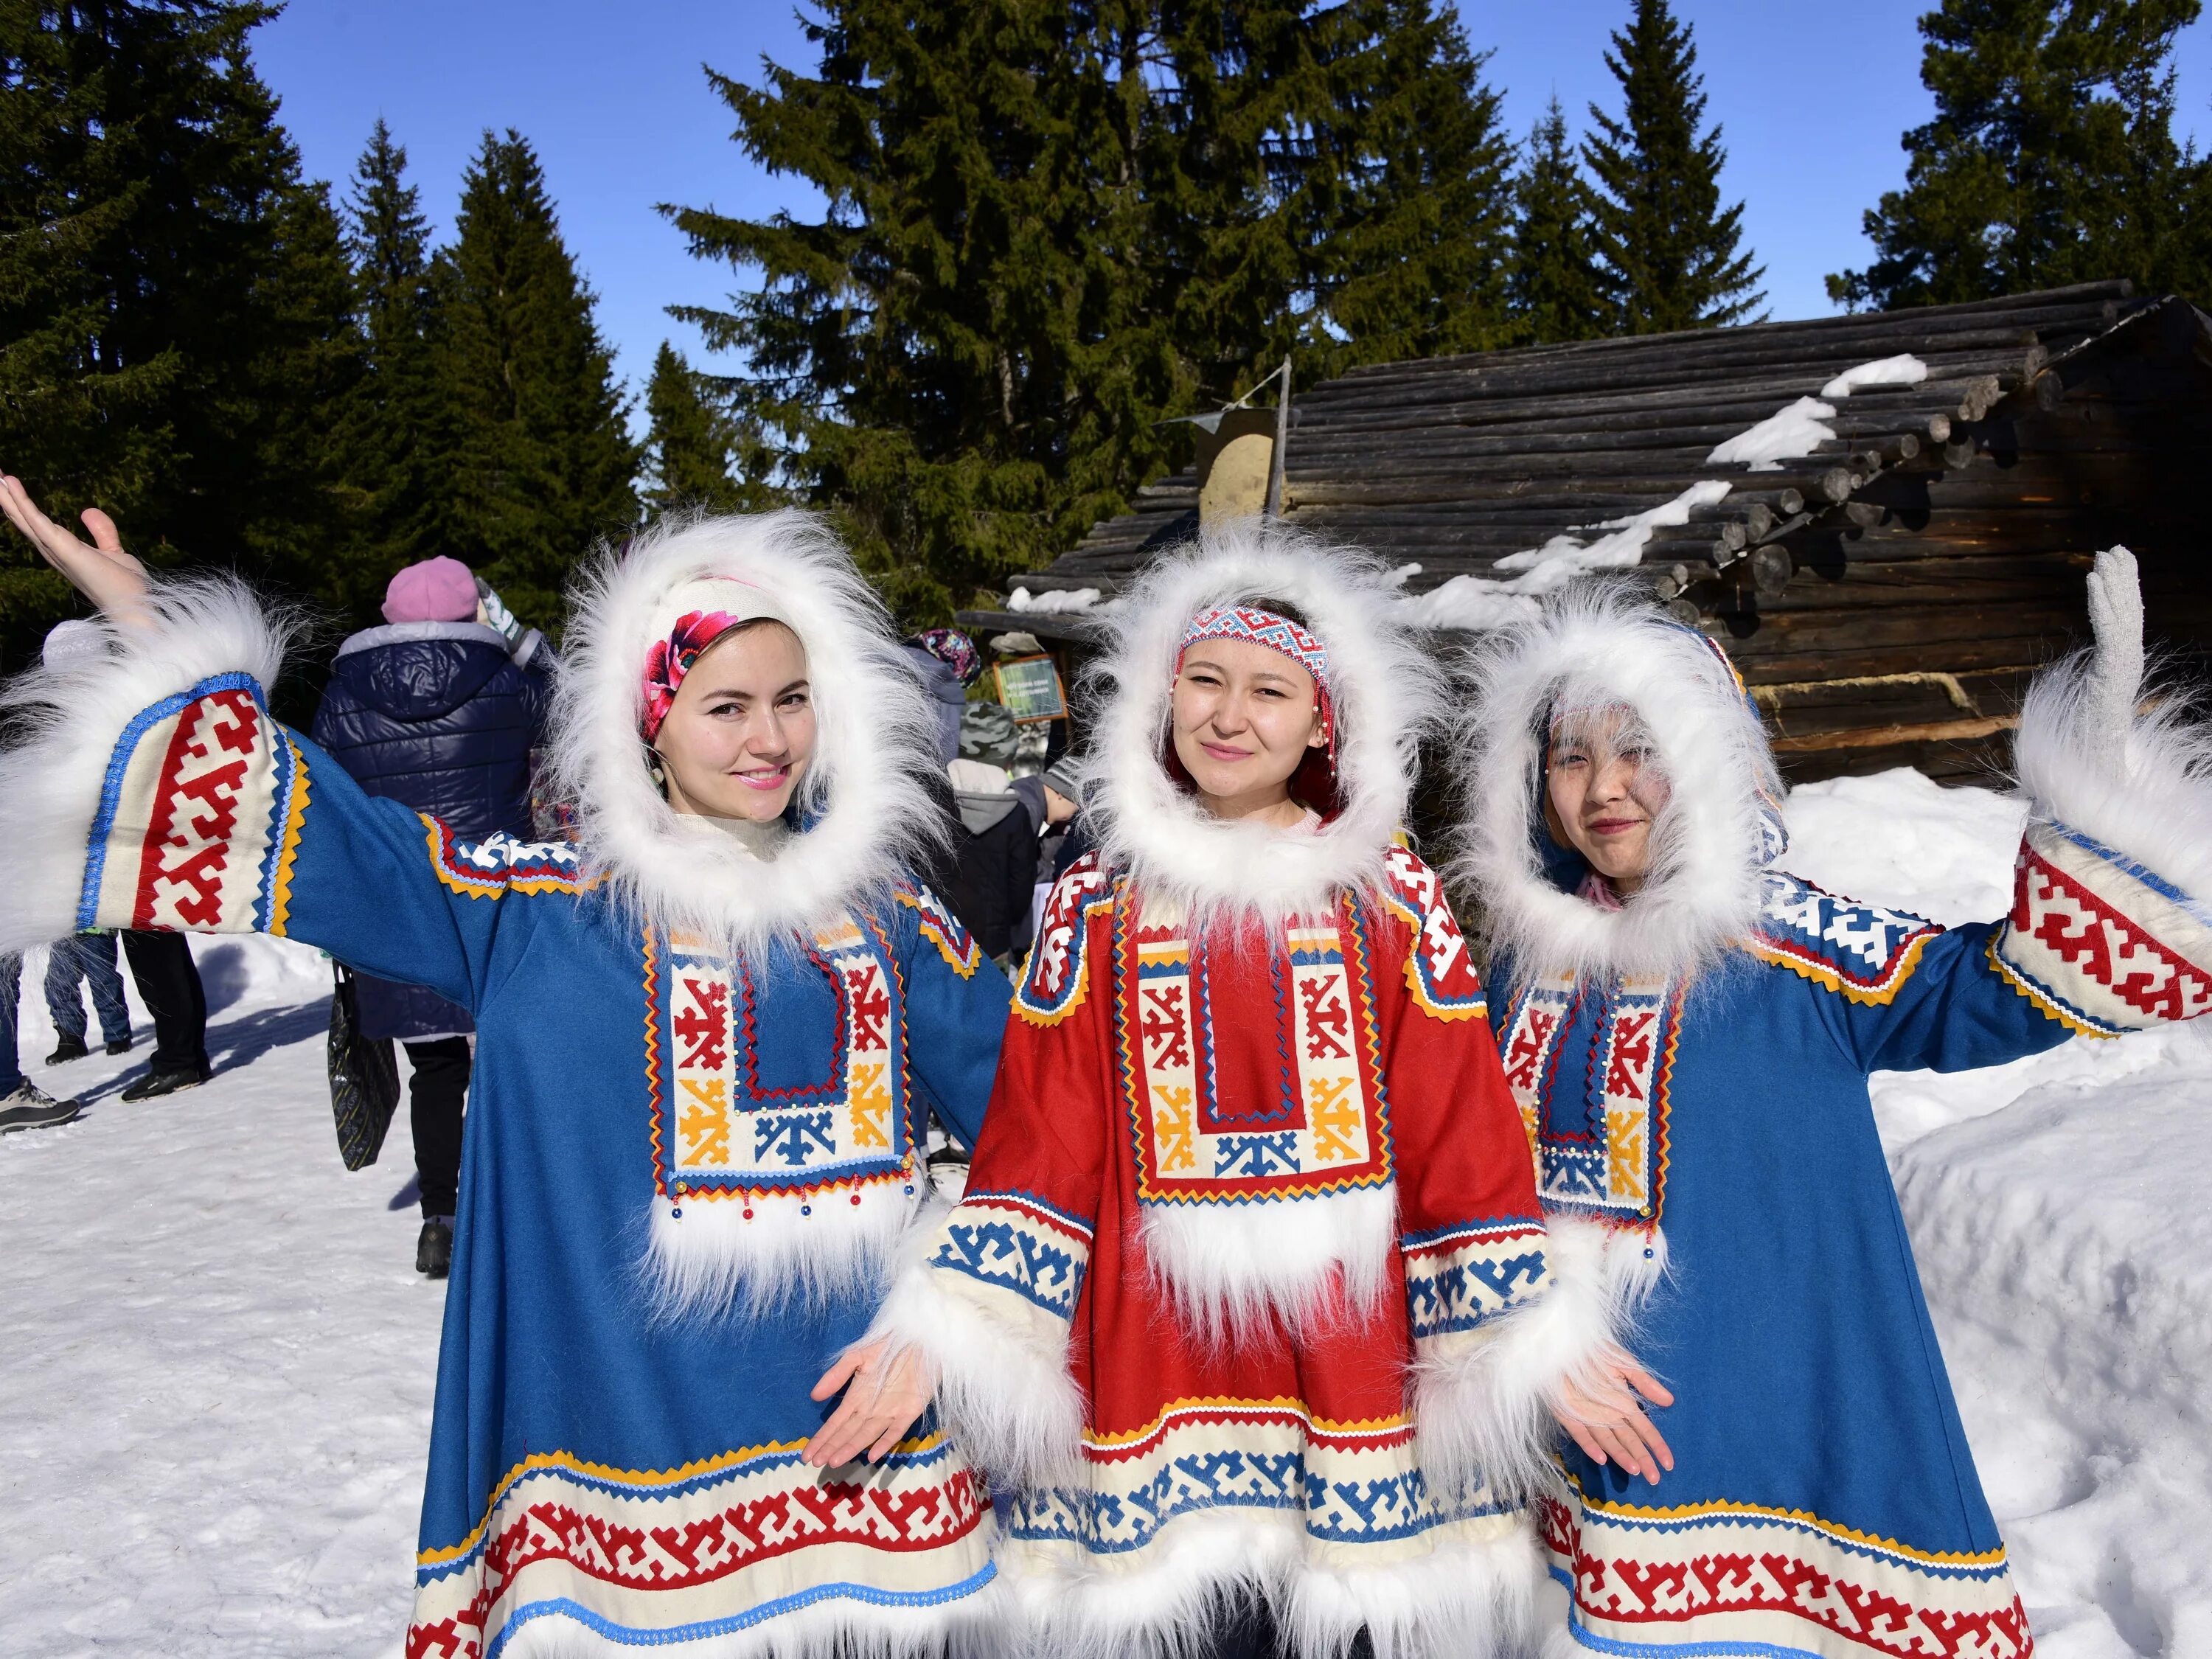
<instances>
[{"instance_id":1,"label":"red-patterned, fur-trimmed cuff on rightmost woman's raised sleeve","mask_svg":"<svg viewBox=\"0 0 2212 1659\"><path fill-rule=\"evenodd\" d=\"M1991 956L2093 1035L2212 1009L2212 732L2181 697L2137 703L2104 695L2084 653L2046 670L2020 717L2031 812Z\"/></svg>"}]
</instances>

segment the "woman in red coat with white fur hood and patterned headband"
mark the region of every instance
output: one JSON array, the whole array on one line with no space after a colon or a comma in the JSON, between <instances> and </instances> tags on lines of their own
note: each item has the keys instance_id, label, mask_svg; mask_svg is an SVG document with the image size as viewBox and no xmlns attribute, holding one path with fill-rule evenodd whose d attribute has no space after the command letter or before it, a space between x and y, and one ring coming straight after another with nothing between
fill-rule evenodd
<instances>
[{"instance_id":1,"label":"woman in red coat with white fur hood and patterned headband","mask_svg":"<svg viewBox=\"0 0 2212 1659\"><path fill-rule=\"evenodd\" d=\"M1394 599L1243 520L1113 606L1099 849L876 1325L1013 1482L1000 1566L1055 1659L1526 1632L1526 1511L1429 1398L1533 1425L1495 1378L1575 1354L1482 984L1400 836L1438 684Z\"/></svg>"}]
</instances>

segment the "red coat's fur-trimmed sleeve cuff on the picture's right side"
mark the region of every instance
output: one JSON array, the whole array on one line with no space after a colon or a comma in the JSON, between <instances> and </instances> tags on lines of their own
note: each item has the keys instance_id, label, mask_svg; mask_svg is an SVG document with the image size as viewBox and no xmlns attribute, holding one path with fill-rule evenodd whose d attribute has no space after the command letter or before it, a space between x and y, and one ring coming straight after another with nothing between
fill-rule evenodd
<instances>
[{"instance_id":1,"label":"red coat's fur-trimmed sleeve cuff on the picture's right side","mask_svg":"<svg viewBox=\"0 0 2212 1659\"><path fill-rule=\"evenodd\" d=\"M1637 1250L1639 1270L1615 1254ZM1420 1464L1442 1491L1486 1489L1526 1500L1557 1484L1551 1447L1559 1387L1621 1345L1628 1307L1663 1265L1659 1234L1617 1243L1590 1221L1551 1219L1513 1237L1473 1241L1480 1263L1451 1261L1416 1272L1420 1245L1407 1248L1413 1305L1413 1427ZM1650 1272L1644 1272L1650 1270ZM1425 1279L1500 1292L1491 1310L1422 1314ZM1462 1296L1464 1301L1467 1296Z\"/></svg>"}]
</instances>

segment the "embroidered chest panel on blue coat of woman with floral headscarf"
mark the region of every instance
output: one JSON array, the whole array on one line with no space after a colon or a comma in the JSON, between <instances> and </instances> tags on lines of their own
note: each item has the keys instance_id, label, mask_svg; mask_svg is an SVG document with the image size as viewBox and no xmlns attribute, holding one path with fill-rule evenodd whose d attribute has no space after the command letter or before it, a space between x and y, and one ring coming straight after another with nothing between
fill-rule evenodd
<instances>
[{"instance_id":1,"label":"embroidered chest panel on blue coat of woman with floral headscarf","mask_svg":"<svg viewBox=\"0 0 2212 1659\"><path fill-rule=\"evenodd\" d=\"M761 971L684 936L646 940L653 1175L664 1197L907 1179L905 987L889 942L865 920L847 922L818 933L799 971L827 982L834 1033L803 1057L796 1082L765 1079Z\"/></svg>"}]
</instances>

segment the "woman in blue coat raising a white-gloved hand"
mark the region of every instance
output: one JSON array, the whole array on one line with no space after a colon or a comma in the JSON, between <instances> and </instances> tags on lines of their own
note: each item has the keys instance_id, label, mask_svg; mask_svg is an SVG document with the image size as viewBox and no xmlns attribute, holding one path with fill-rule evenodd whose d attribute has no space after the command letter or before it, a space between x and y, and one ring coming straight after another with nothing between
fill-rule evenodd
<instances>
[{"instance_id":1,"label":"woman in blue coat raising a white-gloved hand","mask_svg":"<svg viewBox=\"0 0 2212 1659\"><path fill-rule=\"evenodd\" d=\"M1765 732L1703 635L1590 588L1478 648L1462 867L1506 1082L1562 1290L1635 1352L1557 1402L1579 1648L2031 1652L1867 1073L2212 1006L2212 741L2179 699L2139 712L2126 551L2090 617L2022 712L2013 911L1958 929L1774 867Z\"/></svg>"}]
</instances>

